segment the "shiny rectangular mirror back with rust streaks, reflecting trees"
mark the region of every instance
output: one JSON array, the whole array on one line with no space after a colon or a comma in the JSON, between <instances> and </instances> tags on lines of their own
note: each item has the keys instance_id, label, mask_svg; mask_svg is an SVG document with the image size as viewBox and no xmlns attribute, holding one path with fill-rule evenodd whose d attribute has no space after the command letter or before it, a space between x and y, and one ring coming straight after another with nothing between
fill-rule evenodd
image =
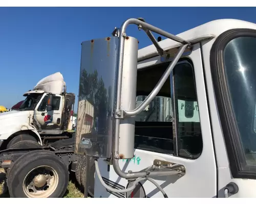
<instances>
[{"instance_id":1,"label":"shiny rectangular mirror back with rust streaks, reflecting trees","mask_svg":"<svg viewBox=\"0 0 256 204\"><path fill-rule=\"evenodd\" d=\"M118 38L93 39L81 45L75 152L109 158Z\"/></svg>"}]
</instances>

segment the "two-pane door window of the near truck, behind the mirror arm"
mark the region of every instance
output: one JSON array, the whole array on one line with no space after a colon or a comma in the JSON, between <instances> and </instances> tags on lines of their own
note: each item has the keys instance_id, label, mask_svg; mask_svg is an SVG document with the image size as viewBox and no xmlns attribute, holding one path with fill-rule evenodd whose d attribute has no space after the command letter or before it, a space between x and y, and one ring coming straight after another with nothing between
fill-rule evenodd
<instances>
[{"instance_id":1,"label":"two-pane door window of the near truck, behind the mirror arm","mask_svg":"<svg viewBox=\"0 0 256 204\"><path fill-rule=\"evenodd\" d=\"M176 65L174 83L178 142L174 142L173 138L173 111L169 93L169 97L155 97L136 115L135 148L163 154L175 154L174 149L178 149L177 156L196 159L202 152L203 141L194 70L189 63ZM145 98L146 95L137 96L136 107Z\"/></svg>"}]
</instances>

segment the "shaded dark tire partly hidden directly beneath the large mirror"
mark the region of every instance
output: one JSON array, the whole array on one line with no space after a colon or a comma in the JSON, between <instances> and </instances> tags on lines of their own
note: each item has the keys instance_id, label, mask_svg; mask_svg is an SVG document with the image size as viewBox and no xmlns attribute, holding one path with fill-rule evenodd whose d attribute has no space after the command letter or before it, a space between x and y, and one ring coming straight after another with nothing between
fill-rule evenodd
<instances>
[{"instance_id":1,"label":"shaded dark tire partly hidden directly beneath the large mirror","mask_svg":"<svg viewBox=\"0 0 256 204\"><path fill-rule=\"evenodd\" d=\"M89 165L86 164L86 157L84 157L82 161L82 167L80 170L80 178L81 178L81 186L82 190L84 191L84 183L86 180L86 168L89 166L89 183L88 183L88 193L90 196L94 197L94 173L95 173L95 164L94 159L90 157Z\"/></svg>"}]
</instances>

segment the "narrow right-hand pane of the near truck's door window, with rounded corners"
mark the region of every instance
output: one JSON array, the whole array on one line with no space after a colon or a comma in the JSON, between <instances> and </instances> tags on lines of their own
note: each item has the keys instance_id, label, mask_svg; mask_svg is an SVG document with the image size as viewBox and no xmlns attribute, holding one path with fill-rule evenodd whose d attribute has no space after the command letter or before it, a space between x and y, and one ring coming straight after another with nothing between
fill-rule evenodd
<instances>
[{"instance_id":1,"label":"narrow right-hand pane of the near truck's door window, with rounded corners","mask_svg":"<svg viewBox=\"0 0 256 204\"><path fill-rule=\"evenodd\" d=\"M203 140L193 67L184 64L174 74L179 156L196 159L203 150Z\"/></svg>"}]
</instances>

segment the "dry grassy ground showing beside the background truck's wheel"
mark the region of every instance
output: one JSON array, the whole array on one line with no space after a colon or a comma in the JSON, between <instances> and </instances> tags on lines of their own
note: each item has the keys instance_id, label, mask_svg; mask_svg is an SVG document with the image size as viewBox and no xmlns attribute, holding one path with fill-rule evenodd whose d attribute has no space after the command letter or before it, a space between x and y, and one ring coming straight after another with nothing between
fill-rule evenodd
<instances>
[{"instance_id":1,"label":"dry grassy ground showing beside the background truck's wheel","mask_svg":"<svg viewBox=\"0 0 256 204\"><path fill-rule=\"evenodd\" d=\"M9 193L5 189L5 171L0 169L0 198L8 198ZM78 184L75 182L73 173L70 174L68 189L63 196L64 198L82 198L83 193L79 190Z\"/></svg>"}]
</instances>

